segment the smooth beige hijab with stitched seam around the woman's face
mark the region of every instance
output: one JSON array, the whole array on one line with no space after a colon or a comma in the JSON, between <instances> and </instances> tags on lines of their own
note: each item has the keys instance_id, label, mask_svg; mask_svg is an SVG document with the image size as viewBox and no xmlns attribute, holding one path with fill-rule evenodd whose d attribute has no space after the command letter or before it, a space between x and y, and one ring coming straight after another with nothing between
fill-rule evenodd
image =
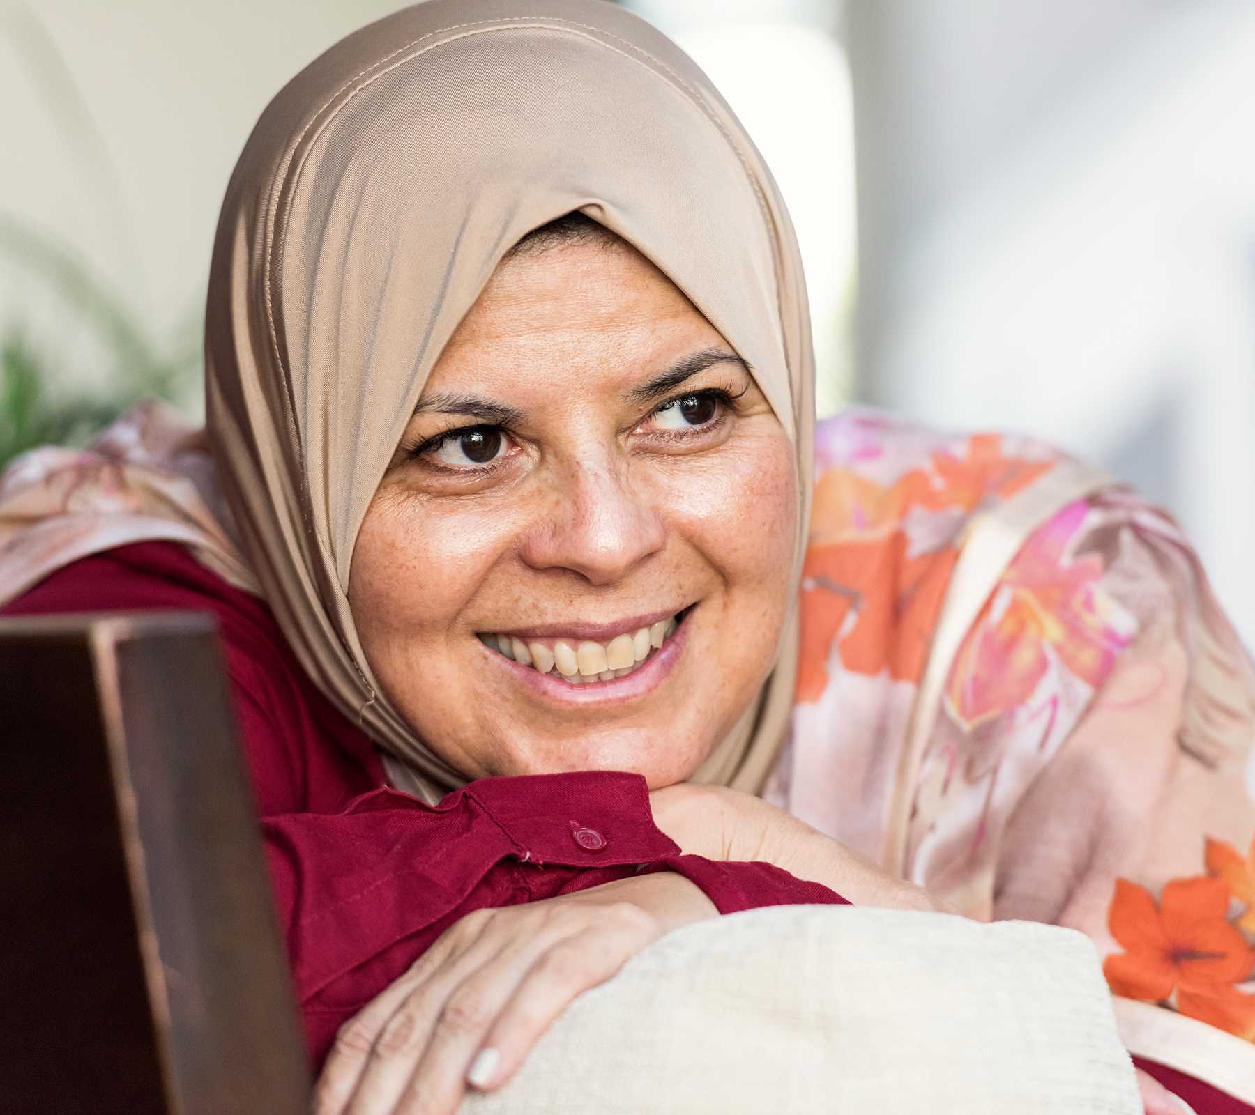
<instances>
[{"instance_id":1,"label":"smooth beige hijab with stitched seam around the woman's face","mask_svg":"<svg viewBox=\"0 0 1255 1115\"><path fill-rule=\"evenodd\" d=\"M749 361L811 498L813 357L779 191L673 43L601 0L429 0L350 35L262 114L227 188L207 431L240 543L301 663L428 800L464 779L380 692L349 611L358 529L441 350L501 257L579 209L635 245ZM797 617L697 778L758 790Z\"/></svg>"}]
</instances>

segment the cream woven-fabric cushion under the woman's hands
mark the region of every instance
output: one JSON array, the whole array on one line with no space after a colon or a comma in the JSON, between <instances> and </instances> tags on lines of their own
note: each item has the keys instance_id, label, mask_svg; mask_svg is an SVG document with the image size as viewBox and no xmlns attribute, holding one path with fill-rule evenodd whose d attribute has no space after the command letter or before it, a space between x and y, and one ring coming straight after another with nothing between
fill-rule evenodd
<instances>
[{"instance_id":1,"label":"cream woven-fabric cushion under the woman's hands","mask_svg":"<svg viewBox=\"0 0 1255 1115\"><path fill-rule=\"evenodd\" d=\"M1030 922L769 907L670 933L467 1115L1141 1115L1089 939Z\"/></svg>"}]
</instances>

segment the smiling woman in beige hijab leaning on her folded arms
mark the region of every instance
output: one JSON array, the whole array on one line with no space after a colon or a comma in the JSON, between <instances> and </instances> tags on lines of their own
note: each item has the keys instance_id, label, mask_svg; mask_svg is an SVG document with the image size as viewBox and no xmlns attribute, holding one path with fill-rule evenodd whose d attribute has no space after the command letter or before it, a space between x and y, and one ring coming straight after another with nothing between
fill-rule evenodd
<instances>
[{"instance_id":1,"label":"smiling woman in beige hijab leaning on her folded arms","mask_svg":"<svg viewBox=\"0 0 1255 1115\"><path fill-rule=\"evenodd\" d=\"M814 436L787 213L656 31L334 46L232 177L206 371L207 449L149 408L13 465L0 584L218 616L321 1110L452 1110L660 932L843 899L1082 928L1148 1102L1255 1101L1192 551L1023 439Z\"/></svg>"}]
</instances>

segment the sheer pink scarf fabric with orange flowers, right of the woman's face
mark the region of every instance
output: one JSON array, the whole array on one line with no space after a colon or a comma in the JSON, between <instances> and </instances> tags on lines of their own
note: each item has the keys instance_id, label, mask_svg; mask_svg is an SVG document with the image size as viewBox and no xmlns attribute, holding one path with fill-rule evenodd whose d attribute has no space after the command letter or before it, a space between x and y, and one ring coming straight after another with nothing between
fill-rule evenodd
<instances>
[{"instance_id":1,"label":"sheer pink scarf fabric with orange flowers, right of the woman's face","mask_svg":"<svg viewBox=\"0 0 1255 1115\"><path fill-rule=\"evenodd\" d=\"M766 796L973 917L1087 933L1117 996L1181 1020L1175 1067L1206 1080L1197 1023L1255 1040L1255 685L1177 526L1114 485L1035 524L921 706L974 531L1064 460L873 411L821 423ZM1255 1074L1255 1050L1222 1047Z\"/></svg>"}]
</instances>

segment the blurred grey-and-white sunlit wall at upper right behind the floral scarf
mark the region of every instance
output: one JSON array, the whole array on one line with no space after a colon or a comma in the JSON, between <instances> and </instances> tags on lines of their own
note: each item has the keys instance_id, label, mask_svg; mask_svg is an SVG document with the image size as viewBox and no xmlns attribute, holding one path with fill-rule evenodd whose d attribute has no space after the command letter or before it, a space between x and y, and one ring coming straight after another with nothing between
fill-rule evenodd
<instances>
[{"instance_id":1,"label":"blurred grey-and-white sunlit wall at upper right behind the floral scarf","mask_svg":"<svg viewBox=\"0 0 1255 1115\"><path fill-rule=\"evenodd\" d=\"M1255 5L852 5L863 398L1165 503L1255 642Z\"/></svg>"}]
</instances>

